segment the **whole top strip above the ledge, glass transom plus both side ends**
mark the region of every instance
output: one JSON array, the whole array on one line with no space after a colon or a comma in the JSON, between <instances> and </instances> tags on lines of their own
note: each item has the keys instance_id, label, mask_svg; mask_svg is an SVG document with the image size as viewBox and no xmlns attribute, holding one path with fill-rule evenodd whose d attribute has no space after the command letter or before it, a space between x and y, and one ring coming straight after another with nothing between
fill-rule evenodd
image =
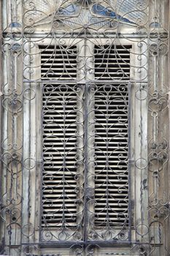
<instances>
[{"instance_id":1,"label":"whole top strip above the ledge, glass transom plus both side ends","mask_svg":"<svg viewBox=\"0 0 170 256\"><path fill-rule=\"evenodd\" d=\"M166 2L166 1L163 1ZM82 33L90 32L146 32L148 28L168 29L166 4L155 16L154 1L148 0L20 0L2 1L3 29L24 34L36 32L53 33L58 30ZM12 6L12 8L11 8ZM5 15L8 13L8 15ZM75 31L76 30L76 31ZM89 32L89 31L88 31Z\"/></svg>"}]
</instances>

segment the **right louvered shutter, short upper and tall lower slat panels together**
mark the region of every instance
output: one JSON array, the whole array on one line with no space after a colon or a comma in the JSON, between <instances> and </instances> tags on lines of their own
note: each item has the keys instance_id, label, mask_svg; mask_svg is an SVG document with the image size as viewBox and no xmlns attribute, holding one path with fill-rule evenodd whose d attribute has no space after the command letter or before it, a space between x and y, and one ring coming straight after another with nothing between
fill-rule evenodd
<instances>
[{"instance_id":1,"label":"right louvered shutter, short upper and tall lower slat panels together","mask_svg":"<svg viewBox=\"0 0 170 256\"><path fill-rule=\"evenodd\" d=\"M96 46L95 78L128 80L130 48ZM120 226L128 223L128 84L96 86L94 97L95 224Z\"/></svg>"}]
</instances>

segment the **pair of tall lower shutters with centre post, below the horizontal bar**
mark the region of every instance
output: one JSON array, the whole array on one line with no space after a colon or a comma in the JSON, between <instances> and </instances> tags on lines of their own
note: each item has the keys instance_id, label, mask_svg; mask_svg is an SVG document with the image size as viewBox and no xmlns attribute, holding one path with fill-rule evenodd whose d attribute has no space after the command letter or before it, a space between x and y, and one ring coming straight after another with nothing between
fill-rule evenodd
<instances>
[{"instance_id":1,"label":"pair of tall lower shutters with centre post, below the horizontal bar","mask_svg":"<svg viewBox=\"0 0 170 256\"><path fill-rule=\"evenodd\" d=\"M128 240L128 85L43 86L42 240Z\"/></svg>"}]
</instances>

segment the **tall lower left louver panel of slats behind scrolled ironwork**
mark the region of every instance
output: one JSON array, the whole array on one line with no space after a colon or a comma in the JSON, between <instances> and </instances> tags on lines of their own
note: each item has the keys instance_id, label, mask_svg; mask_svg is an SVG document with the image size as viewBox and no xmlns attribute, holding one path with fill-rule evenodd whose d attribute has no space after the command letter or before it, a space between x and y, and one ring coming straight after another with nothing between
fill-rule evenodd
<instances>
[{"instance_id":1,"label":"tall lower left louver panel of slats behind scrolled ironwork","mask_svg":"<svg viewBox=\"0 0 170 256\"><path fill-rule=\"evenodd\" d=\"M77 151L76 94L71 87L66 93L60 85L45 86L43 94L43 217L42 226L60 227L76 225L77 173L75 156ZM67 97L69 95L69 99ZM64 98L66 102L63 103ZM69 101L69 103L68 103ZM55 106L55 108L54 108ZM65 110L63 110L65 109ZM65 143L65 146L64 146Z\"/></svg>"}]
</instances>

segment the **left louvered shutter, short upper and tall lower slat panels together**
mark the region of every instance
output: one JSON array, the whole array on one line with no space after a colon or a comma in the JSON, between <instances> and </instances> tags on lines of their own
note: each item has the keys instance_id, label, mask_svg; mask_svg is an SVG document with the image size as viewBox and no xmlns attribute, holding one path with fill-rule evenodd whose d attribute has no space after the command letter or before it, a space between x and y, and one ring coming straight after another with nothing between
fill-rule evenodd
<instances>
[{"instance_id":1,"label":"left louvered shutter, short upper and tall lower slat panels together","mask_svg":"<svg viewBox=\"0 0 170 256\"><path fill-rule=\"evenodd\" d=\"M69 79L77 75L77 48L41 47L42 78ZM77 222L77 105L74 84L43 87L42 226L74 226Z\"/></svg>"}]
</instances>

